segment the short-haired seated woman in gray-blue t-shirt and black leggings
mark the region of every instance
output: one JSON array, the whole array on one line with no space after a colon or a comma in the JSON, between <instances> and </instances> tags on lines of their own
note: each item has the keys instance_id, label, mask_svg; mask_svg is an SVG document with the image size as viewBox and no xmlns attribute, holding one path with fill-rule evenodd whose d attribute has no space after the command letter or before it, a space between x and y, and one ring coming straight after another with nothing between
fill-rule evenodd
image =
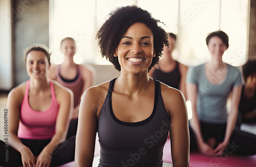
<instances>
[{"instance_id":1,"label":"short-haired seated woman in gray-blue t-shirt and black leggings","mask_svg":"<svg viewBox=\"0 0 256 167\"><path fill-rule=\"evenodd\" d=\"M222 31L206 38L212 55L210 62L189 68L187 99L191 101L193 117L189 124L190 151L199 149L207 156L226 154L256 154L256 135L234 129L241 95L241 72L222 61L228 48L228 36ZM231 95L231 110L227 113L227 97Z\"/></svg>"}]
</instances>

